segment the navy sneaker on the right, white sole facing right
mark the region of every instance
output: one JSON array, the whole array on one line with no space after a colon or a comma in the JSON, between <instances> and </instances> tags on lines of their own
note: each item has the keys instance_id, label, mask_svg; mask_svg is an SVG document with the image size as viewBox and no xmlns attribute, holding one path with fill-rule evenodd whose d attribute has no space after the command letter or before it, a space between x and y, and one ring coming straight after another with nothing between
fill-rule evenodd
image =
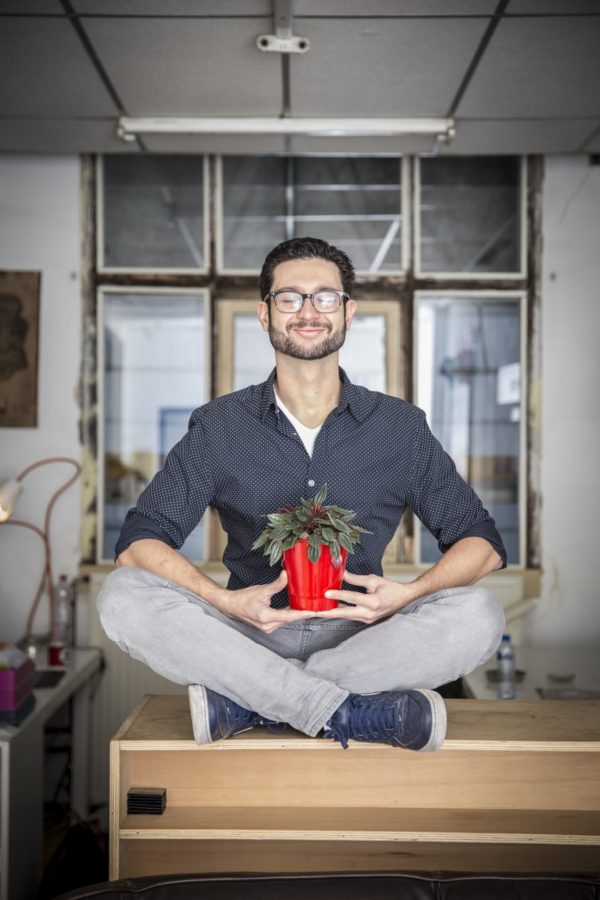
<instances>
[{"instance_id":1,"label":"navy sneaker on the right, white sole facing right","mask_svg":"<svg viewBox=\"0 0 600 900\"><path fill-rule=\"evenodd\" d=\"M446 737L446 707L435 691L350 694L325 725L324 737L344 750L348 740L406 750L439 750Z\"/></svg>"}]
</instances>

